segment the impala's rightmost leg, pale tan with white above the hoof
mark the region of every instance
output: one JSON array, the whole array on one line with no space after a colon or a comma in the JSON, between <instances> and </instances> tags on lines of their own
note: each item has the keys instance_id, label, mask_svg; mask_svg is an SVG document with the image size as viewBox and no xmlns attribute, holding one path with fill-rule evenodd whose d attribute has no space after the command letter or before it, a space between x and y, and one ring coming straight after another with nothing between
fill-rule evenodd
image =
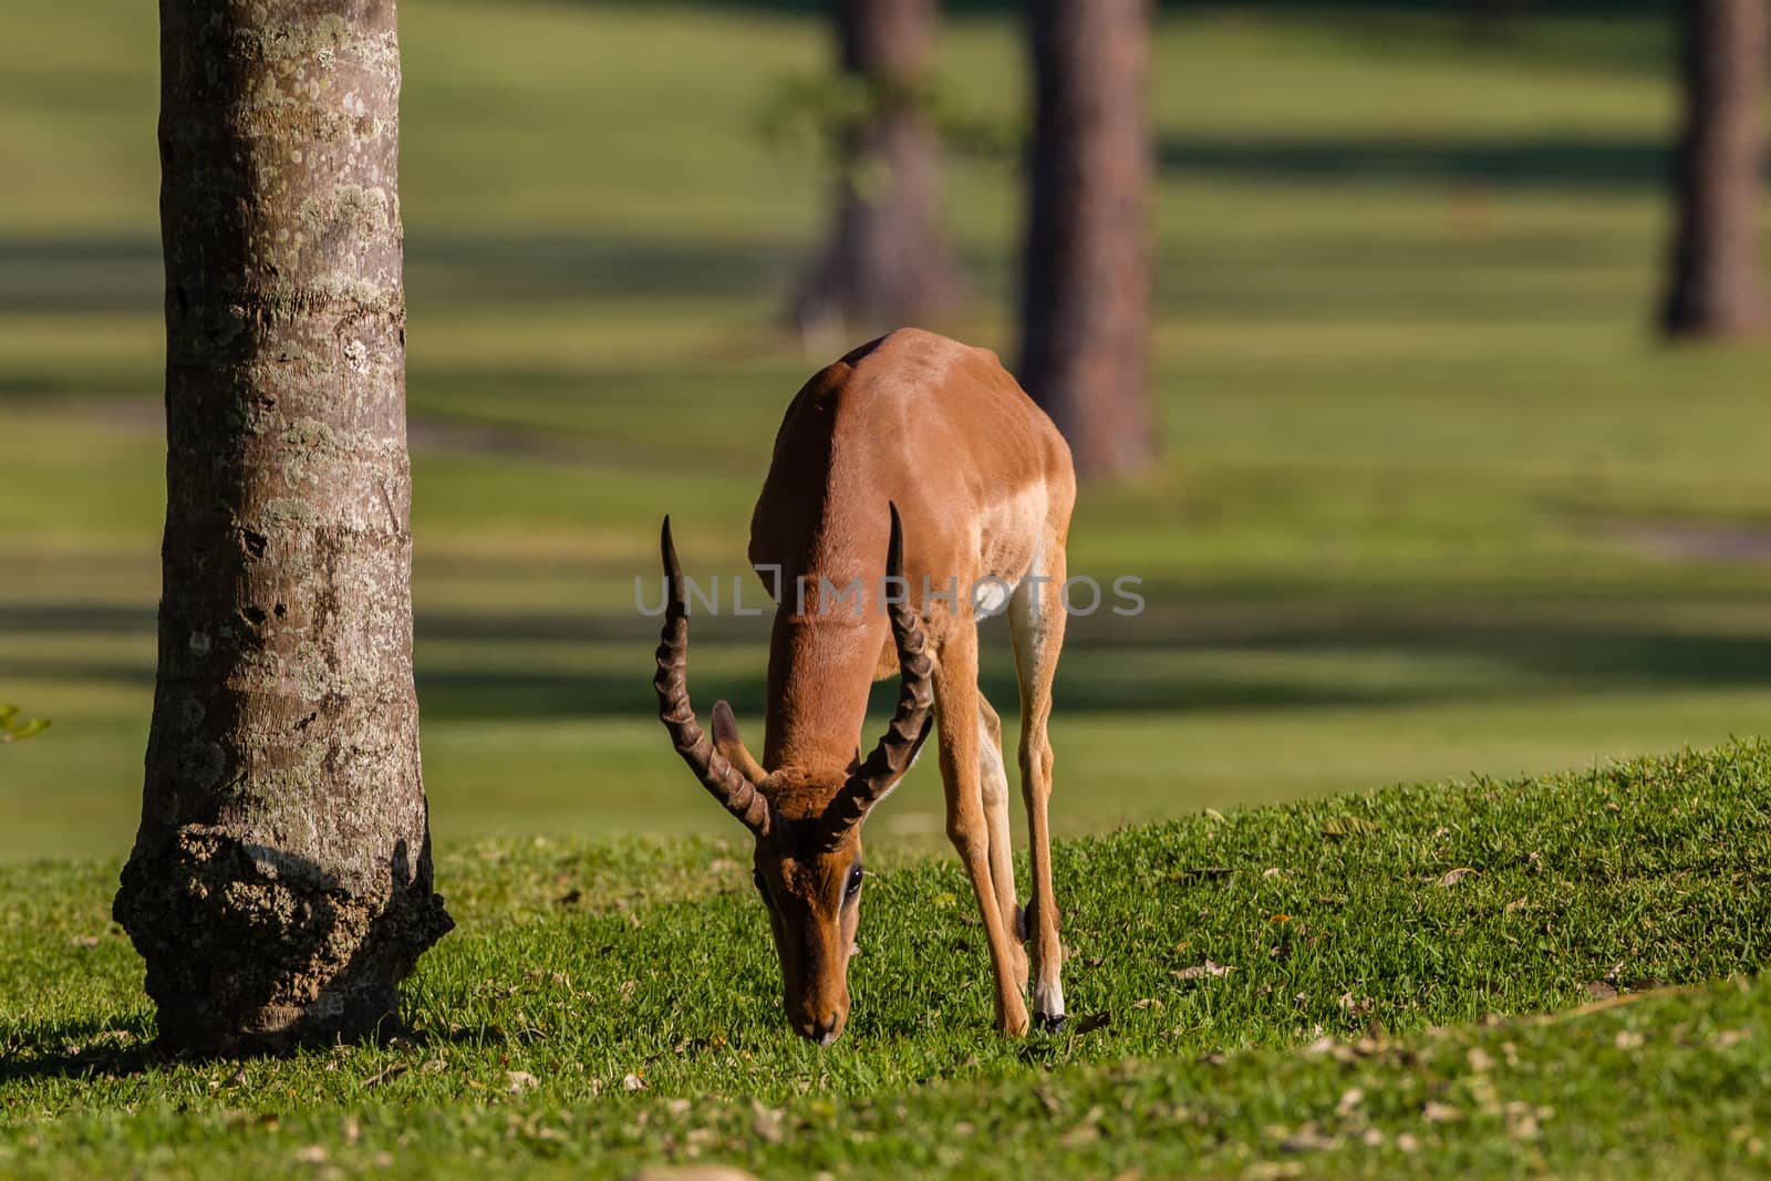
<instances>
[{"instance_id":1,"label":"impala's rightmost leg, pale tan with white above the hoof","mask_svg":"<svg viewBox=\"0 0 1771 1181\"><path fill-rule=\"evenodd\" d=\"M1032 944L1032 1013L1047 1029L1064 1023L1063 946L1057 938L1057 899L1052 896L1052 676L1064 646L1064 545L1048 533L1036 570L1048 581L1024 581L1009 598L1009 630L1015 636L1015 675L1020 682L1020 793L1027 804L1027 836L1032 862L1032 894L1027 903L1027 935Z\"/></svg>"}]
</instances>

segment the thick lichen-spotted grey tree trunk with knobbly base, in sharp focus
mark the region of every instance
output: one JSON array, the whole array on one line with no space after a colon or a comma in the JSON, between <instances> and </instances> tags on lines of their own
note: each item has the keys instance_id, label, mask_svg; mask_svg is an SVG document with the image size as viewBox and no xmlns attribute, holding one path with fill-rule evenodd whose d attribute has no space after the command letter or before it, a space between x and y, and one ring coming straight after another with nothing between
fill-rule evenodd
<instances>
[{"instance_id":1,"label":"thick lichen-spotted grey tree trunk with knobbly base, in sharp focus","mask_svg":"<svg viewBox=\"0 0 1771 1181\"><path fill-rule=\"evenodd\" d=\"M393 0L161 0L166 535L117 921L161 1045L375 1030L452 926L411 666Z\"/></svg>"}]
</instances>

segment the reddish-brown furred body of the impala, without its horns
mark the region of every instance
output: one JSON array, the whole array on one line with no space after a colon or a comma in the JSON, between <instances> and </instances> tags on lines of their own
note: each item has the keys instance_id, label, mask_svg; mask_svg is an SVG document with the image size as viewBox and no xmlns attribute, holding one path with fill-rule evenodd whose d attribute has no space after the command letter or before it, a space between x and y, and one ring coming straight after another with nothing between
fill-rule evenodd
<instances>
[{"instance_id":1,"label":"reddish-brown furred body of the impala, without its horns","mask_svg":"<svg viewBox=\"0 0 1771 1181\"><path fill-rule=\"evenodd\" d=\"M715 712L714 742L786 822L785 839L758 841L754 868L770 899L788 1016L800 1034L829 1041L848 1018L859 898L845 891L861 862L861 834L857 827L822 846L815 818L859 763L871 682L898 671L877 602L891 503L903 517L909 593L935 659L947 834L985 921L997 1023L1015 1034L1027 1029L1008 813L1004 800L986 799L995 788L981 777L979 737L997 740L995 712L978 692L978 630L965 598L979 577L1013 584L1036 560L1041 572L1063 579L1073 501L1063 437L985 349L901 329L818 372L788 407L751 517L751 561L781 570L763 756L744 747L730 714ZM820 593L820 575L834 588L859 579L859 611L847 602L822 611L829 595ZM795 600L802 579L804 613ZM958 602L924 598L924 579L935 595L956 579ZM1057 590L1045 593L1056 598ZM1034 930L1027 935L1041 979L1048 976L1052 995L1061 997L1045 816L1045 721L1061 613L1040 627L1041 639L1029 639L1032 655L1022 660L1029 668L1020 671L1022 791L1034 839Z\"/></svg>"}]
</instances>

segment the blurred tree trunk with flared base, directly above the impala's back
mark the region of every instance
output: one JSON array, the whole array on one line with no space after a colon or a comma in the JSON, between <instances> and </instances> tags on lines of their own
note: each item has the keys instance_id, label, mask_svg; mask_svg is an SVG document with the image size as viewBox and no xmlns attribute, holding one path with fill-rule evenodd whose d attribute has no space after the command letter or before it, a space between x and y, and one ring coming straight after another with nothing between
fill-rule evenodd
<instances>
[{"instance_id":1,"label":"blurred tree trunk with flared base, directly above the impala's back","mask_svg":"<svg viewBox=\"0 0 1771 1181\"><path fill-rule=\"evenodd\" d=\"M838 143L831 239L795 313L852 336L939 315L965 282L940 230L939 143L921 108L939 4L834 4L843 81L866 115Z\"/></svg>"}]
</instances>

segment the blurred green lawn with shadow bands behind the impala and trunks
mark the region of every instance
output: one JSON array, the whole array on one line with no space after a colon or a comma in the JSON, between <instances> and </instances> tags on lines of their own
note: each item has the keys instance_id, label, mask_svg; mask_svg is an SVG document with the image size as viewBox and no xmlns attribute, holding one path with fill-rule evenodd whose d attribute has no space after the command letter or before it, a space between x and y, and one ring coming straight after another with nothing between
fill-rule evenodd
<instances>
[{"instance_id":1,"label":"blurred green lawn with shadow bands behind the impala and trunks","mask_svg":"<svg viewBox=\"0 0 1771 1181\"><path fill-rule=\"evenodd\" d=\"M1155 42L1165 466L1084 492L1063 832L1759 733L1771 382L1649 333L1675 89L1665 5L1187 5ZM439 841L733 836L653 719L655 528L742 572L788 398L847 343L781 308L818 161L758 133L827 66L797 5L404 5L418 683ZM163 512L156 12L0 12L0 857L120 857ZM1022 119L1020 30L949 5L940 74ZM939 324L1013 359L1020 181L956 159L974 278ZM754 600L754 586L749 588ZM990 627L986 691L1013 705ZM767 620L691 683L760 737ZM877 696L882 710L891 687ZM1004 710L1006 722L1015 721ZM924 761L870 838L937 841Z\"/></svg>"}]
</instances>

